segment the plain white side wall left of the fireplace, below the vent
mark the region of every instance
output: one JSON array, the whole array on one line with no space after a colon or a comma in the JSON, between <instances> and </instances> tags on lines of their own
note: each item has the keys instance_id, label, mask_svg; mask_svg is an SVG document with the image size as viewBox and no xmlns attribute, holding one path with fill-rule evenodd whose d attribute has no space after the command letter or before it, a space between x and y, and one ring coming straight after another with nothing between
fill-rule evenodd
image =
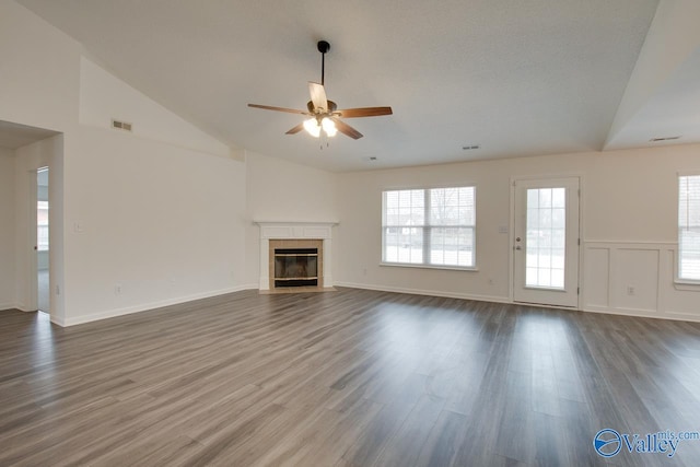
<instances>
[{"instance_id":1,"label":"plain white side wall left of the fireplace, below the vent","mask_svg":"<svg viewBox=\"0 0 700 467\"><path fill-rule=\"evenodd\" d=\"M85 127L71 164L67 324L240 289L243 163Z\"/></svg>"}]
</instances>

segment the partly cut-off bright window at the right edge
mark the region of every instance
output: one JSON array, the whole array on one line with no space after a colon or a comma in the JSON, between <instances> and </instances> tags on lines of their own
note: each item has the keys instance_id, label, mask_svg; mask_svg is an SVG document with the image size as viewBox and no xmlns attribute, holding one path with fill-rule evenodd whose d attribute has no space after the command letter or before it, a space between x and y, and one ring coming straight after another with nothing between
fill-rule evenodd
<instances>
[{"instance_id":1,"label":"partly cut-off bright window at the right edge","mask_svg":"<svg viewBox=\"0 0 700 467\"><path fill-rule=\"evenodd\" d=\"M678 279L700 281L700 175L678 177Z\"/></svg>"}]
</instances>

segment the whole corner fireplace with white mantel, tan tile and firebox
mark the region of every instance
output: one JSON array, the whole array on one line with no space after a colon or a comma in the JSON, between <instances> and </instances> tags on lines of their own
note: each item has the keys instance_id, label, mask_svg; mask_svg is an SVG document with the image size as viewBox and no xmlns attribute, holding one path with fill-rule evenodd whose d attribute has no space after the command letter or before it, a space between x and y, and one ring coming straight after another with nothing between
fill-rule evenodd
<instances>
[{"instance_id":1,"label":"whole corner fireplace with white mantel, tan tile and firebox","mask_svg":"<svg viewBox=\"0 0 700 467\"><path fill-rule=\"evenodd\" d=\"M332 290L331 234L337 222L260 222L260 291Z\"/></svg>"}]
</instances>

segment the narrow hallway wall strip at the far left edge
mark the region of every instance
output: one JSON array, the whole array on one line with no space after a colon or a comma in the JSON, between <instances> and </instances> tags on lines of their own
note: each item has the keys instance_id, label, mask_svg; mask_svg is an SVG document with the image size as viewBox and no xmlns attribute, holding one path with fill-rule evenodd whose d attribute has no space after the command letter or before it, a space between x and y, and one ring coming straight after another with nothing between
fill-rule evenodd
<instances>
[{"instance_id":1,"label":"narrow hallway wall strip at the far left edge","mask_svg":"<svg viewBox=\"0 0 700 467\"><path fill-rule=\"evenodd\" d=\"M14 225L14 151L0 148L0 310L16 306Z\"/></svg>"}]
</instances>

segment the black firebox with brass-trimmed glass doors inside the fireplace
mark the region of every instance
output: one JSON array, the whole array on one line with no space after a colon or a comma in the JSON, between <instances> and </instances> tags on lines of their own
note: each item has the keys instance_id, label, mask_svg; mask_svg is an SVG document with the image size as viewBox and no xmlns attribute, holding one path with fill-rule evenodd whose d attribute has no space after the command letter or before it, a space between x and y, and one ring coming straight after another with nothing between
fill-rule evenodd
<instances>
[{"instance_id":1,"label":"black firebox with brass-trimmed glass doors inside the fireplace","mask_svg":"<svg viewBox=\"0 0 700 467\"><path fill-rule=\"evenodd\" d=\"M317 287L318 248L275 248L275 288Z\"/></svg>"}]
</instances>

